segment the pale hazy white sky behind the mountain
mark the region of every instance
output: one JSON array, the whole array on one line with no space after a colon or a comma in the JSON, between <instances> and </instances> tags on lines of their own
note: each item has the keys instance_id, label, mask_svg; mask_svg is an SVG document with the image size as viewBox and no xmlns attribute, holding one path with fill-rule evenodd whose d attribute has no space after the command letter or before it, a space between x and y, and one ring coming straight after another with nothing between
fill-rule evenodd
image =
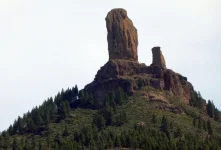
<instances>
[{"instance_id":1,"label":"pale hazy white sky behind the mountain","mask_svg":"<svg viewBox=\"0 0 221 150\"><path fill-rule=\"evenodd\" d=\"M0 131L62 88L83 88L108 60L105 17L125 8L139 62L161 46L167 68L221 109L220 0L1 0Z\"/></svg>"}]
</instances>

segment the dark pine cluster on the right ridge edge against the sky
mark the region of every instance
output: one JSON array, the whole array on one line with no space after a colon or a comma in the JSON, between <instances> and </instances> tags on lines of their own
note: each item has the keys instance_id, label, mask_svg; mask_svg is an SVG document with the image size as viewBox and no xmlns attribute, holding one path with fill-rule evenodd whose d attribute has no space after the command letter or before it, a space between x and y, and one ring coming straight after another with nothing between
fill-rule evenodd
<instances>
[{"instance_id":1,"label":"dark pine cluster on the right ridge edge against the sky","mask_svg":"<svg viewBox=\"0 0 221 150\"><path fill-rule=\"evenodd\" d=\"M205 111L215 121L221 122L221 112L215 107L213 101L208 100L208 103L206 103L200 92L194 91L191 93L190 106Z\"/></svg>"}]
</instances>

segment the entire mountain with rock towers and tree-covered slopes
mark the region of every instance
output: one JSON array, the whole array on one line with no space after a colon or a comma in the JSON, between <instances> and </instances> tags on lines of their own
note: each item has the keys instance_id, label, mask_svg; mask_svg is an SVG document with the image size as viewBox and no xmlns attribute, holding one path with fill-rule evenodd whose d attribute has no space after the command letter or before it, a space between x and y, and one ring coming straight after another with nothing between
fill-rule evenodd
<instances>
[{"instance_id":1,"label":"entire mountain with rock towers and tree-covered slopes","mask_svg":"<svg viewBox=\"0 0 221 150\"><path fill-rule=\"evenodd\" d=\"M138 62L137 30L124 9L106 17L108 62L94 81L18 117L0 135L0 150L220 150L220 111L187 78L166 68L160 47L153 63Z\"/></svg>"}]
</instances>

